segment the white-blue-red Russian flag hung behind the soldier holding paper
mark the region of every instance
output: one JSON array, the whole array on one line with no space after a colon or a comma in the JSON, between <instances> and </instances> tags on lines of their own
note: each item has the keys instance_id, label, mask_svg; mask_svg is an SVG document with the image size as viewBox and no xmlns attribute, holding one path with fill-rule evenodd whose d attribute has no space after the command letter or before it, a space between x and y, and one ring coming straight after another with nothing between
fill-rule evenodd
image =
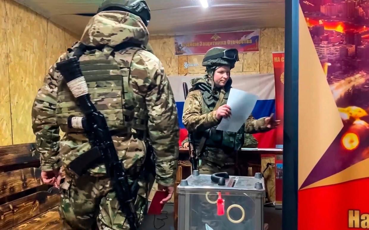
<instances>
[{"instance_id":1,"label":"white-blue-red Russian flag hung behind the soldier holding paper","mask_svg":"<svg viewBox=\"0 0 369 230\"><path fill-rule=\"evenodd\" d=\"M198 77L202 77L199 74ZM170 76L168 77L173 90L176 106L178 110L178 121L180 126L179 145L187 136L187 130L182 123L182 114L184 106L183 82L186 82L191 88L190 80L196 76ZM275 85L274 74L252 74L252 75L232 75L232 87L243 90L259 96L252 115L258 119L268 117L275 113ZM258 140L259 148L275 148L276 146L276 130L254 134Z\"/></svg>"}]
</instances>

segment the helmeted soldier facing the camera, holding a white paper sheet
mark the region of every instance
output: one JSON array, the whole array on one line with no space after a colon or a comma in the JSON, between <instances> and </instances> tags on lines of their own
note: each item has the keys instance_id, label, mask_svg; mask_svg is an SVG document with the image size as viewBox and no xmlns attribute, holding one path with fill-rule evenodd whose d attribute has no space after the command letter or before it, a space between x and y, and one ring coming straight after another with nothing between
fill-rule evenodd
<instances>
[{"instance_id":1,"label":"helmeted soldier facing the camera, holding a white paper sheet","mask_svg":"<svg viewBox=\"0 0 369 230\"><path fill-rule=\"evenodd\" d=\"M231 108L226 104L232 85L230 70L236 61L236 49L208 50L202 63L207 74L191 80L192 88L184 103L183 124L193 133L195 148L202 154L202 174L227 171L234 175L235 152L244 144L244 133L269 131L280 122L270 117L256 120L250 115L238 132L216 130L223 117L231 116Z\"/></svg>"}]
</instances>

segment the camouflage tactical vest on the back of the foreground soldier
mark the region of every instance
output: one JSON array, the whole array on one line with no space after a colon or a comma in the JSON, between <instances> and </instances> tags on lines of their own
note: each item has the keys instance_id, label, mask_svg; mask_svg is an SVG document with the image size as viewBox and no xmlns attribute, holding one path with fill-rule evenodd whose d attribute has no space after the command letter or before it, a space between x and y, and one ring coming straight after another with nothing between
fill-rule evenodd
<instances>
[{"instance_id":1,"label":"camouflage tactical vest on the back of the foreground soldier","mask_svg":"<svg viewBox=\"0 0 369 230\"><path fill-rule=\"evenodd\" d=\"M80 68L86 79L91 100L106 118L111 131L120 134L137 133L146 136L148 115L145 98L135 94L130 87L132 59L142 48L130 47L113 54L113 48L90 50L80 57ZM66 133L83 132L68 127L68 117L82 117L79 106L63 79L58 82L57 123Z\"/></svg>"}]
</instances>

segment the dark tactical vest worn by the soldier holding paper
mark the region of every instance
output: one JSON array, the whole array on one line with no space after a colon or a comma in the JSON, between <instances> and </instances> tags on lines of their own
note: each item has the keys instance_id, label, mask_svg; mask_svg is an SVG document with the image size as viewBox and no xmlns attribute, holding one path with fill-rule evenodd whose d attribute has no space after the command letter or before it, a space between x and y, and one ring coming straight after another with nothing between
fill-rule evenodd
<instances>
[{"instance_id":1,"label":"dark tactical vest worn by the soldier holding paper","mask_svg":"<svg viewBox=\"0 0 369 230\"><path fill-rule=\"evenodd\" d=\"M217 102L214 100L210 92L203 90L200 91L203 98L201 113L208 114L214 110ZM221 102L220 105L225 105L227 103L229 92L230 91L225 92L223 101ZM206 147L209 147L237 151L244 144L244 132L245 132L244 130L245 125L243 124L242 127L238 130L238 132L226 132L217 130L217 126L212 127L204 132L195 132L193 134L195 146L196 148L200 146L201 139L205 137L206 141L204 143L204 149Z\"/></svg>"}]
</instances>

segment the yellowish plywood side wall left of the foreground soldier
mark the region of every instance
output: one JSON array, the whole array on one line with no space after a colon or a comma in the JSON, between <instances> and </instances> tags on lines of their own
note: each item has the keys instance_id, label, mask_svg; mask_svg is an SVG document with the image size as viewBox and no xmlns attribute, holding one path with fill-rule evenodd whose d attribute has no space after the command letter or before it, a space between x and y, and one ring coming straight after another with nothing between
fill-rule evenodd
<instances>
[{"instance_id":1,"label":"yellowish plywood side wall left of the foreground soldier","mask_svg":"<svg viewBox=\"0 0 369 230\"><path fill-rule=\"evenodd\" d=\"M0 0L0 146L34 142L31 108L45 73L79 36Z\"/></svg>"}]
</instances>

